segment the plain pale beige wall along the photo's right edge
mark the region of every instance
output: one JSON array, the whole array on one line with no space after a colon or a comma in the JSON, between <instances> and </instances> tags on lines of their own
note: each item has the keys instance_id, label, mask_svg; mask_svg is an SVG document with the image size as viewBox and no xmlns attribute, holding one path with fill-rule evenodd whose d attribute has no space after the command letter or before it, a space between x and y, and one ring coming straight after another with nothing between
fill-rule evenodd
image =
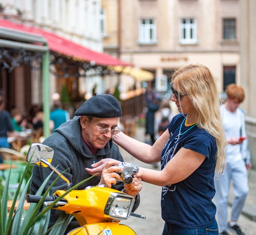
<instances>
[{"instance_id":1,"label":"plain pale beige wall along the photo's right edge","mask_svg":"<svg viewBox=\"0 0 256 235\"><path fill-rule=\"evenodd\" d=\"M243 108L246 110L246 131L248 135L251 162L256 168L256 1L240 1L241 11L241 77L242 86L245 88L246 98Z\"/></svg>"}]
</instances>

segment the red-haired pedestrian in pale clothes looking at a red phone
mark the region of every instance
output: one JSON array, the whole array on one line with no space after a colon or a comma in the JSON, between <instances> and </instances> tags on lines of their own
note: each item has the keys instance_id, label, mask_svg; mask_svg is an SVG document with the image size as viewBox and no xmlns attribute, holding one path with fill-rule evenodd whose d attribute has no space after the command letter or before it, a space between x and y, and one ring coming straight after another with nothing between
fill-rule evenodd
<instances>
[{"instance_id":1,"label":"red-haired pedestrian in pale clothes looking at a red phone","mask_svg":"<svg viewBox=\"0 0 256 235\"><path fill-rule=\"evenodd\" d=\"M238 225L238 219L248 194L247 169L251 167L248 142L245 132L245 114L239 108L244 101L244 89L236 84L229 84L226 89L227 99L221 105L221 116L224 126L226 146L226 167L222 175L215 176L216 205L220 234L227 235L227 230L234 234L244 235ZM231 219L227 223L227 207L230 183L233 183L234 201Z\"/></svg>"}]
</instances>

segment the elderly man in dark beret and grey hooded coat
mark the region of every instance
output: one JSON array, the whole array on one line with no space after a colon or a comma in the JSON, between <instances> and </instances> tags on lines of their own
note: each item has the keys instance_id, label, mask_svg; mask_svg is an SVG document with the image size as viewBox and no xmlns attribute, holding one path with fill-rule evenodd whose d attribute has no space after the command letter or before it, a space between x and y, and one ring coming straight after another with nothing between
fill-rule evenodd
<instances>
[{"instance_id":1,"label":"elderly man in dark beret and grey hooded coat","mask_svg":"<svg viewBox=\"0 0 256 235\"><path fill-rule=\"evenodd\" d=\"M108 172L108 161L113 163L113 159L123 162L119 148L112 141L112 136L119 132L117 122L122 115L121 106L118 100L112 95L95 95L84 102L75 112L75 117L63 123L56 131L49 136L43 144L54 149L52 164L58 166L62 172L68 169L65 175L72 185L81 182L91 176L90 168L92 165L99 164L100 172L78 189L83 189L88 185L98 185L105 183L118 190L125 189L126 193L136 197L133 210L139 205L139 191L142 188L141 179L135 177L133 182L124 185L118 181L118 174ZM105 166L105 168L104 168ZM103 169L104 168L104 169ZM30 193L35 194L41 183L51 173L51 169L33 167L33 177L30 186ZM101 177L102 173L102 177ZM109 173L109 174L108 174ZM119 178L118 178L119 177ZM48 186L56 178L53 176L48 182ZM117 179L116 179L117 178ZM57 189L65 188L66 183L59 179L51 193ZM112 185L113 184L113 185ZM59 211L52 210L50 226L52 226L59 216ZM77 221L72 221L69 230L78 226Z\"/></svg>"}]
</instances>

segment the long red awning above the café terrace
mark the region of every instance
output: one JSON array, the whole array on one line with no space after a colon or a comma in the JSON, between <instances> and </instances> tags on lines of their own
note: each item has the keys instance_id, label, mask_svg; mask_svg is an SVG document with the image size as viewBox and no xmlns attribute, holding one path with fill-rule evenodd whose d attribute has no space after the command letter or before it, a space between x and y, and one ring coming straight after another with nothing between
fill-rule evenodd
<instances>
[{"instance_id":1,"label":"long red awning above the caf\u00e9 terrace","mask_svg":"<svg viewBox=\"0 0 256 235\"><path fill-rule=\"evenodd\" d=\"M0 27L43 36L47 39L48 46L51 51L55 51L66 56L70 56L75 59L84 60L88 62L94 61L96 65L102 66L131 66L131 63L123 62L106 53L92 51L86 47L76 44L75 42L67 40L46 30L42 30L40 28L29 27L22 24L15 24L5 19L0 19Z\"/></svg>"}]
</instances>

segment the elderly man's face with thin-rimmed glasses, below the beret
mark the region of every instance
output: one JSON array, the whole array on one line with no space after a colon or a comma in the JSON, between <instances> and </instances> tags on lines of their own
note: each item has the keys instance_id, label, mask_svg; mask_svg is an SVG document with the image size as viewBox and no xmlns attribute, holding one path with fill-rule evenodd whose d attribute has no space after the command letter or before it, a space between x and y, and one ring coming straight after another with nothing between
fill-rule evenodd
<instances>
[{"instance_id":1,"label":"elderly man's face with thin-rimmed glasses, below the beret","mask_svg":"<svg viewBox=\"0 0 256 235\"><path fill-rule=\"evenodd\" d=\"M103 148L113 136L111 130L117 127L118 117L97 118L89 120L87 116L80 117L82 137L95 148ZM100 134L99 130L108 129L108 132Z\"/></svg>"}]
</instances>

